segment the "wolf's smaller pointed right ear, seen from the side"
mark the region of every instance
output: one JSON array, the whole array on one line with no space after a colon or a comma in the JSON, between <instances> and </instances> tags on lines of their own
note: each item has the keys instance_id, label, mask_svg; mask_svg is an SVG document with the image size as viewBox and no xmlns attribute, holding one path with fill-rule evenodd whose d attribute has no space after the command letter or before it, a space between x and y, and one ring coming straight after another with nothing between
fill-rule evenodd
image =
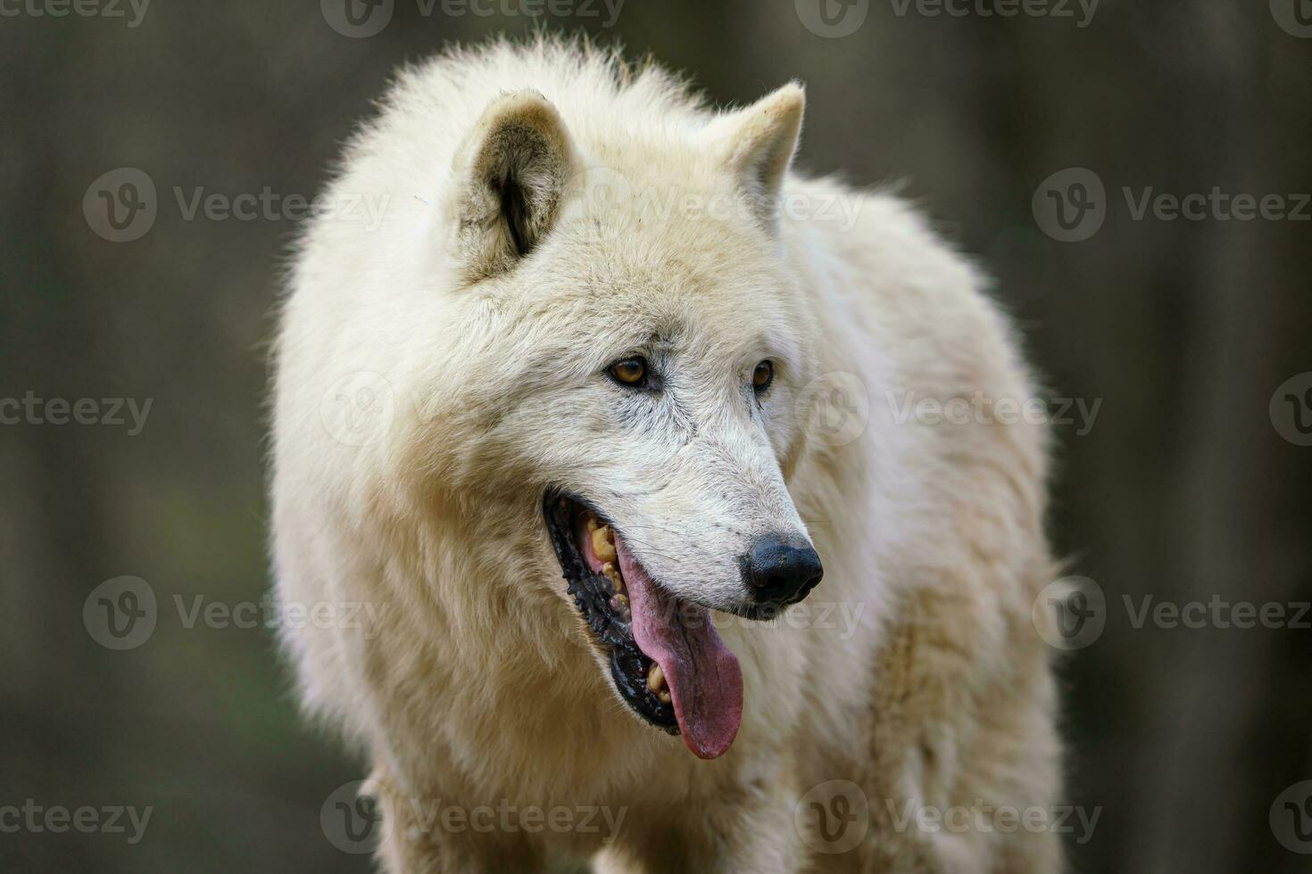
<instances>
[{"instance_id":1,"label":"wolf's smaller pointed right ear, seen from the side","mask_svg":"<svg viewBox=\"0 0 1312 874\"><path fill-rule=\"evenodd\" d=\"M706 128L720 162L737 177L766 227L775 224L779 189L798 151L806 104L802 85L789 83Z\"/></svg>"}]
</instances>

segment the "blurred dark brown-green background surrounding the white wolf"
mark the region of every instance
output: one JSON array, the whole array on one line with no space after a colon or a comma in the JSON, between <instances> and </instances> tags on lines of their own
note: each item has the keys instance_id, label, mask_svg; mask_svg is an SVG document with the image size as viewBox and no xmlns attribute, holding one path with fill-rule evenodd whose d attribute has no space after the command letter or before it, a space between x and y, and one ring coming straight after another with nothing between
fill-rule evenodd
<instances>
[{"instance_id":1,"label":"blurred dark brown-green background surrounding the white wolf","mask_svg":"<svg viewBox=\"0 0 1312 874\"><path fill-rule=\"evenodd\" d=\"M1101 807L1073 869L1312 870L1312 4L350 1L0 3L0 398L31 398L0 400L0 807L154 808L135 843L3 831L0 870L369 870L320 826L361 768L262 626L285 207L398 64L538 26L718 104L806 81L799 165L900 183L1051 397L1101 404L1055 428L1052 537L1106 601L1061 668L1068 801ZM283 206L192 211L262 193ZM84 398L97 423L59 425ZM125 575L146 641L84 621ZM1172 628L1145 598L1286 611Z\"/></svg>"}]
</instances>

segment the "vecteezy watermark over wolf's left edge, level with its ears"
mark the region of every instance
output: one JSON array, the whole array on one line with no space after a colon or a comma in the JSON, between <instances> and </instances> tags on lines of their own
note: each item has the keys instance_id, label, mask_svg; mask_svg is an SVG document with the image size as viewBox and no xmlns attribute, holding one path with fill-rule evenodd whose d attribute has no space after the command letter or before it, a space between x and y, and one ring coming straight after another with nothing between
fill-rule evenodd
<instances>
[{"instance_id":1,"label":"vecteezy watermark over wolf's left edge, level with its ears","mask_svg":"<svg viewBox=\"0 0 1312 874\"><path fill-rule=\"evenodd\" d=\"M358 223L377 231L386 218L391 195L379 191L329 189L316 197L285 194L264 186L258 191L227 194L203 185L172 187L173 203L184 221L306 221L328 218ZM87 225L110 242L131 242L146 236L159 218L155 181L142 169L121 166L102 173L83 195Z\"/></svg>"}]
</instances>

